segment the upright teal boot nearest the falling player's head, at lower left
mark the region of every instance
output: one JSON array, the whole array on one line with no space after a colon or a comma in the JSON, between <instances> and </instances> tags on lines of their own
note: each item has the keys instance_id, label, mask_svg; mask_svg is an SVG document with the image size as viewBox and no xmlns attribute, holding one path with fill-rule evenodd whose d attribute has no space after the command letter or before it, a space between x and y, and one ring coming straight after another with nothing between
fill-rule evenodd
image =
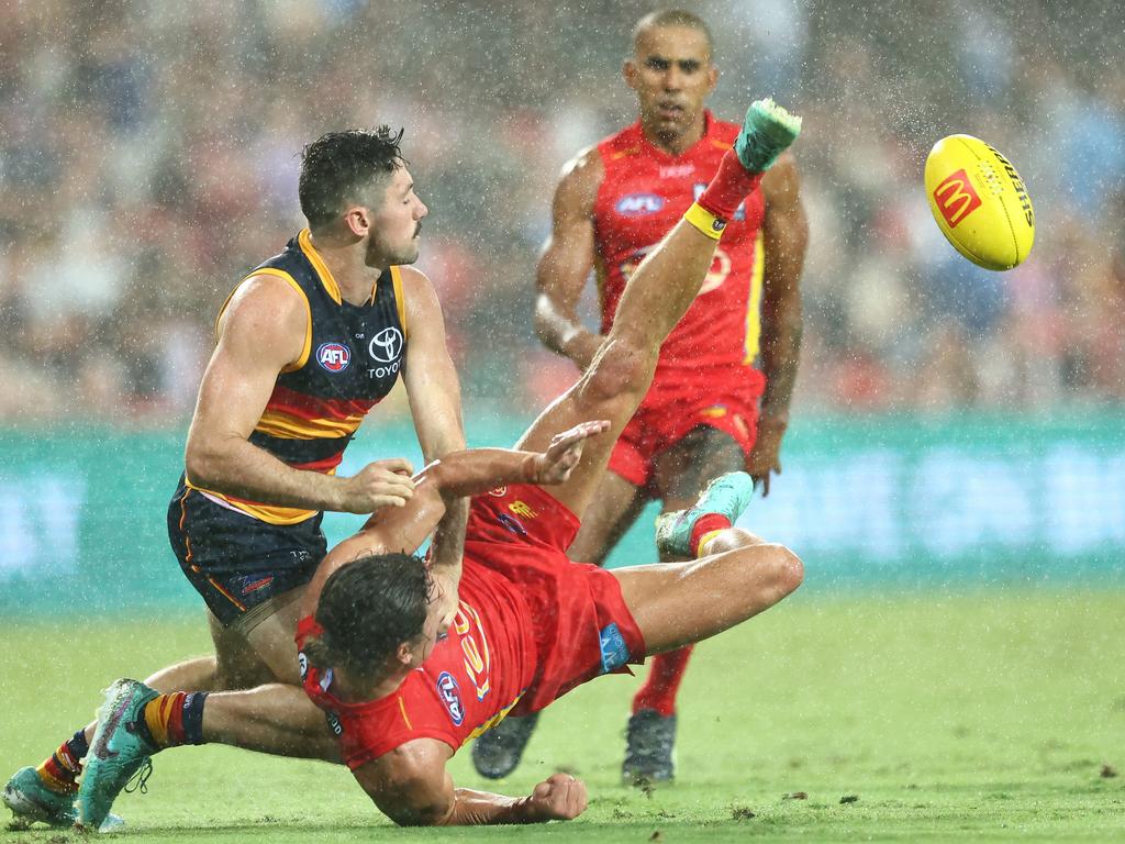
<instances>
[{"instance_id":1,"label":"upright teal boot nearest the falling player's head, at lower left","mask_svg":"<svg viewBox=\"0 0 1125 844\"><path fill-rule=\"evenodd\" d=\"M118 680L106 690L106 700L98 710L98 729L83 763L74 808L74 825L97 829L109 815L109 808L134 774L141 779L137 788L146 791L152 772L150 756L156 748L150 744L144 724L144 707L158 692L137 680Z\"/></svg>"}]
</instances>

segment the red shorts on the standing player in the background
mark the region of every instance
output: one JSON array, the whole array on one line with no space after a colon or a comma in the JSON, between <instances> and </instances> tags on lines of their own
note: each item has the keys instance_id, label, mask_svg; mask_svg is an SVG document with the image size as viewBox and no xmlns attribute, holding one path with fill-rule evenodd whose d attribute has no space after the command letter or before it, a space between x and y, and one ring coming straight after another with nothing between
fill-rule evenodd
<instances>
[{"instance_id":1,"label":"red shorts on the standing player in the background","mask_svg":"<svg viewBox=\"0 0 1125 844\"><path fill-rule=\"evenodd\" d=\"M656 457L701 425L724 431L744 455L754 448L765 376L753 367L709 370L688 378L657 374L648 395L610 455L610 472L633 486L652 481Z\"/></svg>"}]
</instances>

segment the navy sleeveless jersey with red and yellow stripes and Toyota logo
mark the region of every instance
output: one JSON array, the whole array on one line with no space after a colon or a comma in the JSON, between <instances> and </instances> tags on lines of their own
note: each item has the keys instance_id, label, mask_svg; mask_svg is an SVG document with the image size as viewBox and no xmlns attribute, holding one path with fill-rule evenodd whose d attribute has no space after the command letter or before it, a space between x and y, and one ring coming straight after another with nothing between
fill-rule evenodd
<instances>
[{"instance_id":1,"label":"navy sleeveless jersey with red and yellow stripes and Toyota logo","mask_svg":"<svg viewBox=\"0 0 1125 844\"><path fill-rule=\"evenodd\" d=\"M306 228L246 278L253 276L274 276L289 284L305 299L308 322L300 359L278 375L250 441L294 468L334 473L368 411L395 386L405 359L399 269L382 273L366 304L344 302ZM228 297L219 317L230 302ZM199 488L190 478L186 483ZM296 524L316 514L200 492L272 524Z\"/></svg>"}]
</instances>

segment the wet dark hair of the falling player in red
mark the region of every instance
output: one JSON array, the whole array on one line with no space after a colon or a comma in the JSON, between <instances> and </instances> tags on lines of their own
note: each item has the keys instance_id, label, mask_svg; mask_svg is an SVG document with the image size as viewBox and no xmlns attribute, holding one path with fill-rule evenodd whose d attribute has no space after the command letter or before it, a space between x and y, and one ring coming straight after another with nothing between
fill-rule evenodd
<instances>
[{"instance_id":1,"label":"wet dark hair of the falling player in red","mask_svg":"<svg viewBox=\"0 0 1125 844\"><path fill-rule=\"evenodd\" d=\"M400 644L422 635L432 593L433 581L420 557L359 557L324 584L313 613L323 632L305 643L305 655L321 668L371 676Z\"/></svg>"}]
</instances>

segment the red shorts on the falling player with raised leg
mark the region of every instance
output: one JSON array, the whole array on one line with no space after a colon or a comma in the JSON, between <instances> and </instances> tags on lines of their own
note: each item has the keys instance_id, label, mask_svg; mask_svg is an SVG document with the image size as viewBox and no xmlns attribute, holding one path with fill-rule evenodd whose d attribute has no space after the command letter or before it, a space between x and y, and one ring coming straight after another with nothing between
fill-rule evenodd
<instances>
[{"instance_id":1,"label":"red shorts on the falling player with raised leg","mask_svg":"<svg viewBox=\"0 0 1125 844\"><path fill-rule=\"evenodd\" d=\"M538 486L502 487L472 501L466 565L482 565L516 586L536 639L534 679L515 715L536 712L598 674L645 662L645 639L618 578L566 556L578 524Z\"/></svg>"}]
</instances>

